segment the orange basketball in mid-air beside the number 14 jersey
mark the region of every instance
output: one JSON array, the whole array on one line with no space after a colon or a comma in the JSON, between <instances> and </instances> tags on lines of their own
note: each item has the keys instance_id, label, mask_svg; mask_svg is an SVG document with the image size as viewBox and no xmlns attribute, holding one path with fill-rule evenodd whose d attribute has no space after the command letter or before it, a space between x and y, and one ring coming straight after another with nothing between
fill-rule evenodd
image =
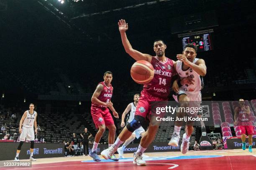
<instances>
[{"instance_id":1,"label":"orange basketball in mid-air beside the number 14 jersey","mask_svg":"<svg viewBox=\"0 0 256 170\"><path fill-rule=\"evenodd\" d=\"M139 60L131 67L131 77L138 84L146 84L154 77L154 67L148 61Z\"/></svg>"}]
</instances>

